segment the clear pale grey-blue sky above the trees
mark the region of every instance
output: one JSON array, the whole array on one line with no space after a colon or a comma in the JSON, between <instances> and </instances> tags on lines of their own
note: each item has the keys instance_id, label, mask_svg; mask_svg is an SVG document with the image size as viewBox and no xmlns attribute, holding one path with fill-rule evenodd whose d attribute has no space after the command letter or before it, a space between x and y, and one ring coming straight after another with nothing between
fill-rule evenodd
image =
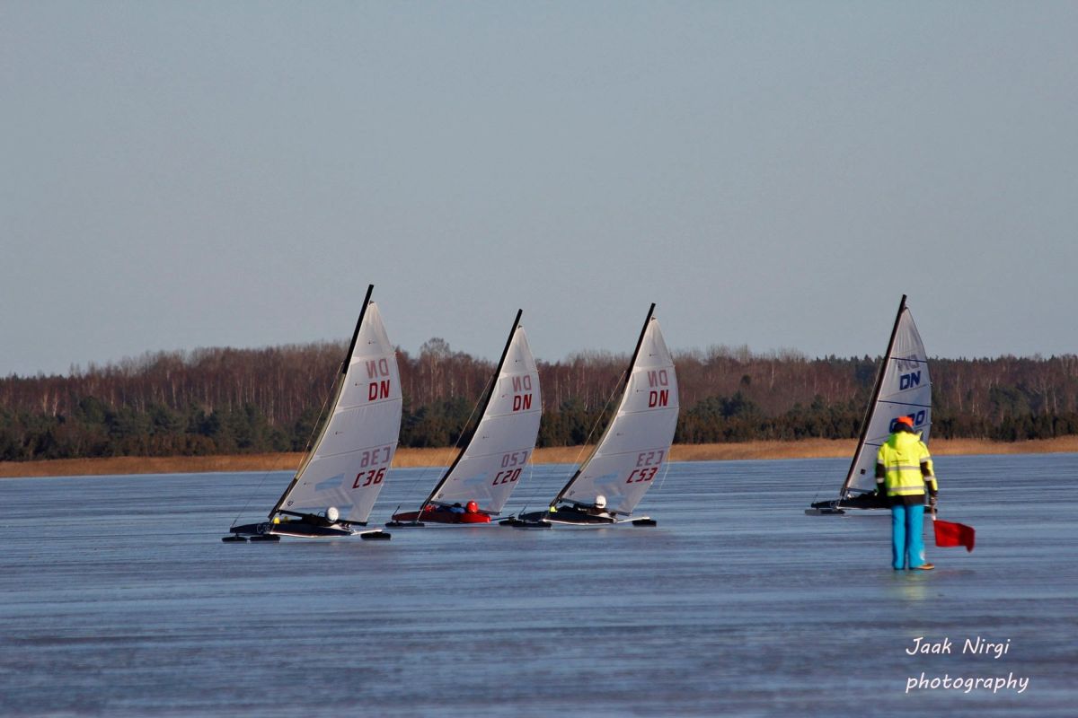
<instances>
[{"instance_id":1,"label":"clear pale grey-blue sky above the trees","mask_svg":"<svg viewBox=\"0 0 1078 718\"><path fill-rule=\"evenodd\" d=\"M1078 3L0 2L0 376L1078 351Z\"/></svg>"}]
</instances>

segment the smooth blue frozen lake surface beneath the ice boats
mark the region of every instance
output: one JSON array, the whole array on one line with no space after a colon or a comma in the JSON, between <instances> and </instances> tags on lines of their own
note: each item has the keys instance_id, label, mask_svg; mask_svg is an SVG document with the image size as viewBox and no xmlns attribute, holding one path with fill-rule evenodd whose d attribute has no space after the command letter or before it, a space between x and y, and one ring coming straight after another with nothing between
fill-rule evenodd
<instances>
[{"instance_id":1,"label":"smooth blue frozen lake surface beneath the ice boats","mask_svg":"<svg viewBox=\"0 0 1078 718\"><path fill-rule=\"evenodd\" d=\"M890 569L882 516L803 513L847 465L674 464L654 529L279 544L220 538L287 471L0 480L0 713L1074 716L1078 454L939 457L940 517L978 543L928 536L930 573ZM393 470L371 523L438 476ZM907 692L922 673L1027 684Z\"/></svg>"}]
</instances>

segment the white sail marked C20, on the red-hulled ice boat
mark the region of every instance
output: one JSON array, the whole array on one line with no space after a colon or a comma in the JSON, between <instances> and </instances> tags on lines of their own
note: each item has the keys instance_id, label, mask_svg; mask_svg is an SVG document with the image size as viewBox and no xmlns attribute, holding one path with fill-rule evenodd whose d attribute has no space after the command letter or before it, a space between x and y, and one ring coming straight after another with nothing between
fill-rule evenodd
<instances>
[{"instance_id":1,"label":"white sail marked C20, on the red-hulled ice boat","mask_svg":"<svg viewBox=\"0 0 1078 718\"><path fill-rule=\"evenodd\" d=\"M539 434L539 371L524 327L515 326L471 441L434 490L439 504L474 501L499 513L520 483Z\"/></svg>"}]
</instances>

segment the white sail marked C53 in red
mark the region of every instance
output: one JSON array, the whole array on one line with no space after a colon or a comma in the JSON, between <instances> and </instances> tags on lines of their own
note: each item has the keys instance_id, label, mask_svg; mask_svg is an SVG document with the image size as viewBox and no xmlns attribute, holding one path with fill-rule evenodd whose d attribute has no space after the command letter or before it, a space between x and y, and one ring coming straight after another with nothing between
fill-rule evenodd
<instances>
[{"instance_id":1,"label":"white sail marked C53 in red","mask_svg":"<svg viewBox=\"0 0 1078 718\"><path fill-rule=\"evenodd\" d=\"M674 360L650 318L618 412L595 451L558 499L592 504L605 496L611 513L632 513L666 462L677 428Z\"/></svg>"}]
</instances>

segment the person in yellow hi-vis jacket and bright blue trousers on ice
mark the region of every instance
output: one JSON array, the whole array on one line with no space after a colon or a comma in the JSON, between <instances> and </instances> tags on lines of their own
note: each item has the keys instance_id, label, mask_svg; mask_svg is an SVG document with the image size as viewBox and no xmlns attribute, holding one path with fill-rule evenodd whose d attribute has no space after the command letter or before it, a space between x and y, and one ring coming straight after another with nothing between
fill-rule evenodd
<instances>
[{"instance_id":1,"label":"person in yellow hi-vis jacket and bright blue trousers on ice","mask_svg":"<svg viewBox=\"0 0 1078 718\"><path fill-rule=\"evenodd\" d=\"M939 487L932 473L928 447L913 433L913 417L899 417L894 431L876 453L876 490L886 492L890 505L892 565L895 571L936 566L925 560L922 536L925 519L925 485L932 509Z\"/></svg>"}]
</instances>

